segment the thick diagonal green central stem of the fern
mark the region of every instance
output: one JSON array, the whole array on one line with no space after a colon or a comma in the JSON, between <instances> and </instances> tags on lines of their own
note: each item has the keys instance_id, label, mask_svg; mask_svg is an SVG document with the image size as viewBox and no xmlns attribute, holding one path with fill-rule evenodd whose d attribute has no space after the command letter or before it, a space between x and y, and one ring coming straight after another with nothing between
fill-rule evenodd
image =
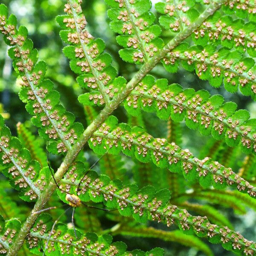
<instances>
[{"instance_id":1,"label":"thick diagonal green central stem of the fern","mask_svg":"<svg viewBox=\"0 0 256 256\"><path fill-rule=\"evenodd\" d=\"M114 98L109 105L106 105L105 108L99 113L96 119L86 128L84 133L81 135L76 145L73 146L72 150L67 152L61 166L58 168L58 171L55 173L55 180L59 182L61 177L67 172L70 165L75 160L77 154L84 147L84 144L92 136L92 134L99 128L99 126L111 115L111 113L119 106L119 104L129 95L131 90L140 82L141 79L151 70L153 67L169 52L170 50L177 47L184 39L188 38L192 32L197 29L210 15L217 11L223 3L227 0L217 0L214 3L211 3L208 8L198 17L198 19L187 27L186 30L180 32L175 38L173 38L166 46L148 62L146 62L141 69L136 73L136 75L128 82L125 88ZM16 256L20 247L23 244L23 241L26 239L26 236L29 234L32 225L34 224L38 214L34 214L44 208L47 204L52 193L55 191L56 185L51 182L47 189L40 196L38 201L35 204L34 209L29 214L26 221L23 223L21 230L15 239L14 244L9 250L8 256Z\"/></svg>"}]
</instances>

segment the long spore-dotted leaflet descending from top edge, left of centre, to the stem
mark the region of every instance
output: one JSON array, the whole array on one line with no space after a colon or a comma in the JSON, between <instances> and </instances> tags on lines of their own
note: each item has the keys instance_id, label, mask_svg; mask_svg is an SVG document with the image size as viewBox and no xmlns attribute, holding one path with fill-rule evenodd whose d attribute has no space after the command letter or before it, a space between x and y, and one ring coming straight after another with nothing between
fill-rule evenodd
<instances>
[{"instance_id":1,"label":"long spore-dotted leaflet descending from top edge, left of centre, to the stem","mask_svg":"<svg viewBox=\"0 0 256 256\"><path fill-rule=\"evenodd\" d=\"M94 104L109 103L126 81L122 77L116 78L117 72L111 65L111 56L102 53L105 43L100 38L94 39L85 30L86 20L80 1L68 0L64 11L66 15L56 17L61 28L65 29L60 32L62 40L70 44L64 47L64 55L70 59L71 69L80 75L77 78L79 85L92 90L91 93L80 95L79 101L89 103L93 99Z\"/></svg>"}]
</instances>

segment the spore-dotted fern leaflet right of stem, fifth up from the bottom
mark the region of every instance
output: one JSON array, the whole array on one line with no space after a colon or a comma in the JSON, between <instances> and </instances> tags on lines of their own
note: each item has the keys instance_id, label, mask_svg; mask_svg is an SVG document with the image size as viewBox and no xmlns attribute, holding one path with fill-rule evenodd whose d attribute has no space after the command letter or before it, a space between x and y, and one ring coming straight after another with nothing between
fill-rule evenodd
<instances>
[{"instance_id":1,"label":"spore-dotted fern leaflet right of stem, fifth up from the bottom","mask_svg":"<svg viewBox=\"0 0 256 256\"><path fill-rule=\"evenodd\" d=\"M214 44L189 47L181 43L169 52L162 61L167 71L176 73L179 63L184 69L195 70L202 80L209 80L213 87L220 87L235 93L238 88L245 96L256 99L255 61L243 56L238 49L230 51L227 47L216 49Z\"/></svg>"}]
</instances>

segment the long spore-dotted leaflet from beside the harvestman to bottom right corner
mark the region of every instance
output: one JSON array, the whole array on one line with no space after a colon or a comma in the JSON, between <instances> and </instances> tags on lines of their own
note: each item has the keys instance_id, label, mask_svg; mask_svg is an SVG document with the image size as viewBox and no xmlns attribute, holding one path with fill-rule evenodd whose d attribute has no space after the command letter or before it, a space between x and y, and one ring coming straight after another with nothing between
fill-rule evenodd
<instances>
[{"instance_id":1,"label":"long spore-dotted leaflet from beside the harvestman to bottom right corner","mask_svg":"<svg viewBox=\"0 0 256 256\"><path fill-rule=\"evenodd\" d=\"M70 171L68 177L81 177L84 168L82 165L79 168L72 166ZM79 182L64 177L61 183L68 192L75 193ZM103 202L109 208L118 209L121 215L132 216L141 223L153 220L165 223L168 227L176 223L186 234L207 237L210 242L222 243L227 250L240 254L256 253L256 244L247 241L239 233L228 227L212 225L207 217L192 216L185 209L169 204L168 189L156 191L154 187L146 186L138 190L136 185L122 186L119 180L112 181L105 175L89 172L81 183L79 197L82 201Z\"/></svg>"}]
</instances>

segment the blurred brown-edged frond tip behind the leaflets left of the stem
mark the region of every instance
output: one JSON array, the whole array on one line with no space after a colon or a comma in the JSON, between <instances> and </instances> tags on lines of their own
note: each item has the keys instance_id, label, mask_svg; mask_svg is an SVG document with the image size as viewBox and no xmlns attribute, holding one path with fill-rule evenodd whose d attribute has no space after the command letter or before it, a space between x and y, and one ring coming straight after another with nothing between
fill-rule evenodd
<instances>
[{"instance_id":1,"label":"blurred brown-edged frond tip behind the leaflets left of the stem","mask_svg":"<svg viewBox=\"0 0 256 256\"><path fill-rule=\"evenodd\" d=\"M22 146L29 148L32 159L37 160L42 167L47 166L46 153L36 141L35 135L21 122L17 123L17 134Z\"/></svg>"}]
</instances>

